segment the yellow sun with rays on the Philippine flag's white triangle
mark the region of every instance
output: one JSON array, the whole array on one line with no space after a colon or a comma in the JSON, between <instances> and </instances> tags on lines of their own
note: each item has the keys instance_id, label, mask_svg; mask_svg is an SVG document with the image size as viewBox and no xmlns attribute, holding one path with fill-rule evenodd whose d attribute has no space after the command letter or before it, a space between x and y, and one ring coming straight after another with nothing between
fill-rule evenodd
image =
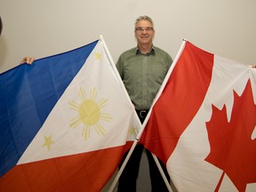
<instances>
[{"instance_id":1,"label":"yellow sun with rays on the Philippine flag's white triangle","mask_svg":"<svg viewBox=\"0 0 256 192\"><path fill-rule=\"evenodd\" d=\"M90 138L91 128L94 128L99 135L105 135L106 131L100 124L100 120L109 122L112 117L108 114L101 113L100 109L108 104L108 100L100 100L100 102L97 103L97 91L95 88L91 90L89 99L86 99L84 89L81 88L79 98L81 100L80 104L75 100L68 102L71 109L76 110L78 113L78 116L71 119L70 127L76 128L79 124L84 124L82 133L84 140Z\"/></svg>"}]
</instances>

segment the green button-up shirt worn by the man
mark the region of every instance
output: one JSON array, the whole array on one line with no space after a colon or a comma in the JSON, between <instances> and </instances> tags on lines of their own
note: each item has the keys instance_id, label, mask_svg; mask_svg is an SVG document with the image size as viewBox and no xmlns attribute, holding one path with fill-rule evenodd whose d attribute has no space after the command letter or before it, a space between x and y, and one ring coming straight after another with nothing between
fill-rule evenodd
<instances>
[{"instance_id":1,"label":"green button-up shirt worn by the man","mask_svg":"<svg viewBox=\"0 0 256 192\"><path fill-rule=\"evenodd\" d=\"M116 68L136 109L151 107L171 64L171 56L156 46L147 54L134 47L120 55Z\"/></svg>"}]
</instances>

